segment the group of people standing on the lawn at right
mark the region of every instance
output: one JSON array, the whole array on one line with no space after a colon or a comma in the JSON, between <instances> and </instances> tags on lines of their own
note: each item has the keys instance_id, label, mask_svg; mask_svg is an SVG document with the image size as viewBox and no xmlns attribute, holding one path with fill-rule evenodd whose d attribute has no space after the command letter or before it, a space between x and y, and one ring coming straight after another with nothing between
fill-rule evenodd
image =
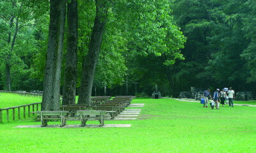
<instances>
[{"instance_id":1,"label":"group of people standing on the lawn at right","mask_svg":"<svg viewBox=\"0 0 256 153\"><path fill-rule=\"evenodd\" d=\"M216 91L213 93L213 97L211 96L210 89L207 89L204 91L203 94L204 98L204 107L208 107L209 99L210 105L212 110L214 109L214 106L216 106L216 109L220 109L220 103L222 106L225 105L225 101L228 101L229 106L234 107L233 99L235 99L235 91L232 89L232 87L229 88L229 90L225 90L225 88L220 91L220 89L216 89Z\"/></svg>"}]
</instances>

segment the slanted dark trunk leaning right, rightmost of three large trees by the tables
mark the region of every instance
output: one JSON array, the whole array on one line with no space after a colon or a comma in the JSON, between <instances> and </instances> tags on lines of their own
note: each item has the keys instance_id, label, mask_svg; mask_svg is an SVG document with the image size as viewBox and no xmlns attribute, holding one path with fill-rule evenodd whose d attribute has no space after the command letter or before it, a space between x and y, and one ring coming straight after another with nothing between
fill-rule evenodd
<instances>
[{"instance_id":1,"label":"slanted dark trunk leaning right, rightmost of three large trees by the tables","mask_svg":"<svg viewBox=\"0 0 256 153\"><path fill-rule=\"evenodd\" d=\"M80 85L81 91L78 98L79 104L85 104L88 106L91 106L93 78L107 18L106 2L104 0L95 0L95 3L96 16L94 20L88 54L83 65Z\"/></svg>"}]
</instances>

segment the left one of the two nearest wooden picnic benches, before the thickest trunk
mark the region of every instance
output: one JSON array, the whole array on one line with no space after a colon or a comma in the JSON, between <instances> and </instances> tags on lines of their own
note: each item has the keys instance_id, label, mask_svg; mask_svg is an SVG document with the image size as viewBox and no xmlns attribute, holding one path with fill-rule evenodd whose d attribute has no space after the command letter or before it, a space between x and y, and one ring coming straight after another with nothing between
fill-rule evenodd
<instances>
[{"instance_id":1,"label":"left one of the two nearest wooden picnic benches, before the thickest trunk","mask_svg":"<svg viewBox=\"0 0 256 153\"><path fill-rule=\"evenodd\" d=\"M65 116L67 116L66 111L38 111L36 112L37 117L41 120L41 126L47 126L48 120L60 119L61 127L65 126Z\"/></svg>"}]
</instances>

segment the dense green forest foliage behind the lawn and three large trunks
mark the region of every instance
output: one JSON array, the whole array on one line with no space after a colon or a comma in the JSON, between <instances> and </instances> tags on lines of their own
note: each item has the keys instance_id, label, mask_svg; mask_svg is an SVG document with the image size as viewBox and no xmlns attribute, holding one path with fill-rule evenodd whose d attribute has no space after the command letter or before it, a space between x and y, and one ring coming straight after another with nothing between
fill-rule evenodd
<instances>
[{"instance_id":1,"label":"dense green forest foliage behind the lawn and three large trunks","mask_svg":"<svg viewBox=\"0 0 256 153\"><path fill-rule=\"evenodd\" d=\"M164 96L190 87L255 92L256 1L132 2L109 11L92 96L150 95L156 84ZM78 1L77 92L94 18L94 1ZM43 90L48 27L49 1L0 2L0 90L8 82L12 91Z\"/></svg>"}]
</instances>

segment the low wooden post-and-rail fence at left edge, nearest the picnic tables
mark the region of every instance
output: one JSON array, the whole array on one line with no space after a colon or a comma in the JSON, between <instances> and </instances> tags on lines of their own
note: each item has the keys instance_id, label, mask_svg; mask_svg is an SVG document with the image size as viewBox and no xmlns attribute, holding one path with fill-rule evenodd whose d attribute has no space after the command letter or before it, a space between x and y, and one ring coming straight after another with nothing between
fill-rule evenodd
<instances>
[{"instance_id":1,"label":"low wooden post-and-rail fence at left edge, nearest the picnic tables","mask_svg":"<svg viewBox=\"0 0 256 153\"><path fill-rule=\"evenodd\" d=\"M12 119L15 120L15 108L18 109L18 118L20 119L20 108L23 108L23 117L26 119L26 106L28 106L28 117L30 117L30 107L32 105L32 112L35 112L35 106L36 111L38 111L38 105L41 105L42 103L31 103L27 105L20 105L20 106L13 106L8 108L0 108L0 123L3 123L3 110L6 110L6 119L9 121L9 110L12 110ZM35 113L33 113L35 115Z\"/></svg>"}]
</instances>

